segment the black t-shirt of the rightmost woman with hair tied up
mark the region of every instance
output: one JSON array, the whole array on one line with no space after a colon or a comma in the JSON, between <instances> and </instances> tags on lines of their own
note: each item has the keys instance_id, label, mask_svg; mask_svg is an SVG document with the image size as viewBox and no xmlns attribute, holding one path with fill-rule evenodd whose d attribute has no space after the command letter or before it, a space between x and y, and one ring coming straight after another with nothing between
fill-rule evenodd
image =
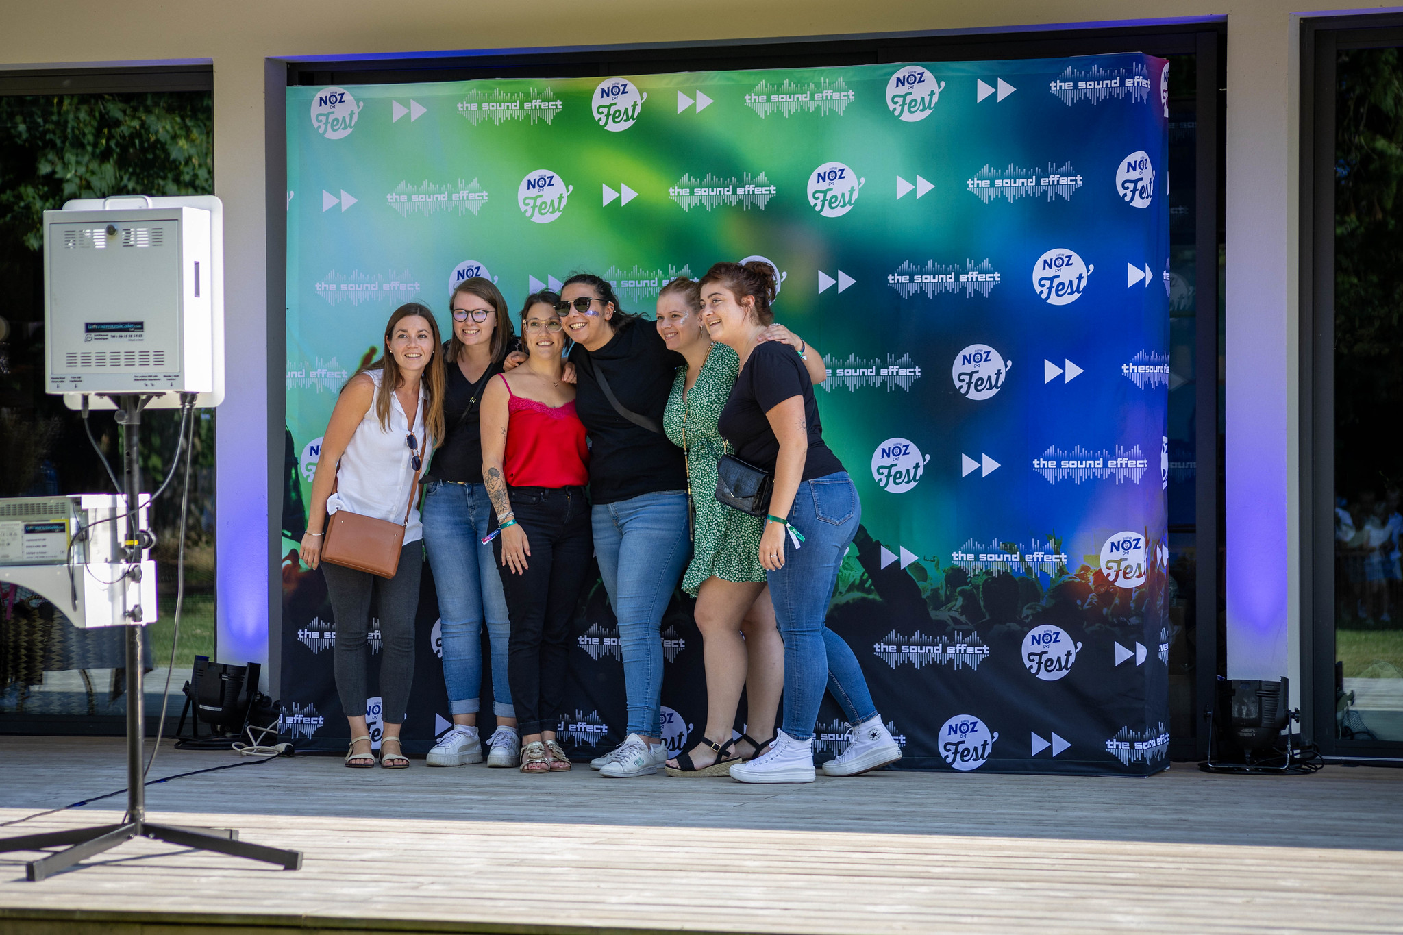
<instances>
[{"instance_id":1,"label":"black t-shirt of the rightmost woman with hair tied up","mask_svg":"<svg viewBox=\"0 0 1403 935\"><path fill-rule=\"evenodd\" d=\"M814 381L798 359L798 352L781 341L766 341L751 352L741 369L731 397L721 409L720 430L735 457L766 471L774 471L780 440L765 416L790 397L804 397L804 422L808 425L808 456L804 458L805 481L838 474L843 463L824 444L824 425L818 421Z\"/></svg>"}]
</instances>

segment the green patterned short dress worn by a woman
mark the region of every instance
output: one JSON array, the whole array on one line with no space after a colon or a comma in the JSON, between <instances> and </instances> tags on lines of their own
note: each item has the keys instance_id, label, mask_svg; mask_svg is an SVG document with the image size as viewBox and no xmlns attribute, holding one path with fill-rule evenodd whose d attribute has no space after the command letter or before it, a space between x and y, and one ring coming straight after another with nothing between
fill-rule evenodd
<instances>
[{"instance_id":1,"label":"green patterned short dress worn by a woman","mask_svg":"<svg viewBox=\"0 0 1403 935\"><path fill-rule=\"evenodd\" d=\"M687 486L696 507L696 527L692 564L682 589L693 597L702 582L713 575L728 582L765 580L760 565L765 523L716 499L716 463L725 453L716 426L739 373L741 359L735 352L721 342L711 345L690 390L686 390L687 369L678 367L662 416L668 437L687 453Z\"/></svg>"}]
</instances>

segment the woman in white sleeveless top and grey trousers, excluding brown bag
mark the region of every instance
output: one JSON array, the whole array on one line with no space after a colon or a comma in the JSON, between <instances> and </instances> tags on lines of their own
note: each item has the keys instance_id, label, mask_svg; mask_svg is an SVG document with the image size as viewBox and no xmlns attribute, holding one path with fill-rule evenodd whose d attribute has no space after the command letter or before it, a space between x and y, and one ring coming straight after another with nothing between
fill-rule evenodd
<instances>
[{"instance_id":1,"label":"woman in white sleeveless top and grey trousers, excluding brown bag","mask_svg":"<svg viewBox=\"0 0 1403 935\"><path fill-rule=\"evenodd\" d=\"M424 531L415 499L419 471L435 442L443 437L439 345L434 313L418 303L394 310L384 325L384 355L341 390L311 479L311 507L300 554L309 568L321 566L335 614L337 694L351 726L348 767L375 765L366 728L372 596L377 601L382 639L380 765L387 770L410 765L400 744L400 726L414 680L414 613L424 568L419 541ZM405 524L394 578L321 562L327 513L338 510Z\"/></svg>"}]
</instances>

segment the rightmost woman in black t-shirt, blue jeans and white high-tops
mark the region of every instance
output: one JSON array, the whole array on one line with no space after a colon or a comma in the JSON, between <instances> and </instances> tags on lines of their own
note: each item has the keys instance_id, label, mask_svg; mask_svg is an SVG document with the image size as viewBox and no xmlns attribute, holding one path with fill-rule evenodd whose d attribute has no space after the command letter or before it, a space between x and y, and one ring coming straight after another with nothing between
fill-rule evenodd
<instances>
[{"instance_id":1,"label":"rightmost woman in black t-shirt, blue jeans and white high-tops","mask_svg":"<svg viewBox=\"0 0 1403 935\"><path fill-rule=\"evenodd\" d=\"M760 535L774 617L784 638L784 725L769 751L731 767L742 782L812 782L814 723L825 687L853 725L853 740L828 775L856 775L901 758L853 650L828 629L828 601L857 534L857 488L826 444L814 384L794 348L756 343L773 321L767 264L717 264L702 278L702 321L741 357L721 409L721 437L741 461L773 475ZM786 540L793 548L786 555Z\"/></svg>"}]
</instances>

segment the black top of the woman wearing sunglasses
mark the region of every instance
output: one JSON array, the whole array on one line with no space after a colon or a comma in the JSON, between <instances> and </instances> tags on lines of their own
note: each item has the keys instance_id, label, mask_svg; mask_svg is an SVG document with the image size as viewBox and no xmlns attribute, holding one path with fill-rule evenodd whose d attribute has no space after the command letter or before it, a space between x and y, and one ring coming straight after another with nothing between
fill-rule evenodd
<instances>
[{"instance_id":1,"label":"black top of the woman wearing sunglasses","mask_svg":"<svg viewBox=\"0 0 1403 935\"><path fill-rule=\"evenodd\" d=\"M686 359L668 350L651 321L633 321L595 352L575 345L575 412L589 432L589 500L617 503L655 491L685 491L682 449L619 415L595 380L602 370L624 408L662 428L662 411L678 366Z\"/></svg>"}]
</instances>

